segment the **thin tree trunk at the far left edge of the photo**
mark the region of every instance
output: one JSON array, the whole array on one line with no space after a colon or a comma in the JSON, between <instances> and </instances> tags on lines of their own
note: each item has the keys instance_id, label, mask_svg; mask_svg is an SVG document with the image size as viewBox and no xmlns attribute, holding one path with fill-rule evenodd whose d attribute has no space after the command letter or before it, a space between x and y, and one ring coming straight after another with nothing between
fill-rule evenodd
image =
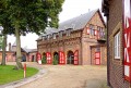
<instances>
[{"instance_id":1,"label":"thin tree trunk at the far left edge of the photo","mask_svg":"<svg viewBox=\"0 0 131 88\"><path fill-rule=\"evenodd\" d=\"M7 48L7 35L3 35L1 65L5 65L5 48Z\"/></svg>"}]
</instances>

